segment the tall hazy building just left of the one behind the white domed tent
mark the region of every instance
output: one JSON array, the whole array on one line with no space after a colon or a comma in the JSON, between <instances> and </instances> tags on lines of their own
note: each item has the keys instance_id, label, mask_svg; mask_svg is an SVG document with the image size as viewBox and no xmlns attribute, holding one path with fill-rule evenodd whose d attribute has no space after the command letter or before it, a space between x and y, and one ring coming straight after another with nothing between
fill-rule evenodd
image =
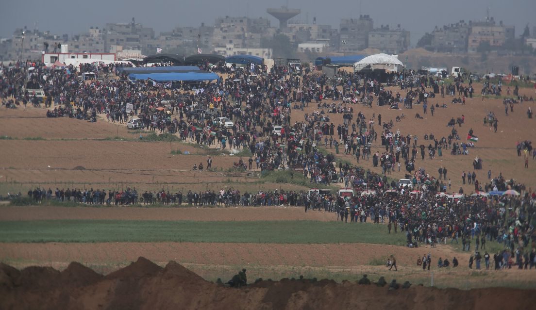
<instances>
[{"instance_id":1,"label":"tall hazy building just left of the one behind the white domed tent","mask_svg":"<svg viewBox=\"0 0 536 310\"><path fill-rule=\"evenodd\" d=\"M340 52L355 54L369 46L369 32L374 28L374 21L369 15L360 15L359 19L341 19L339 40L336 46Z\"/></svg>"}]
</instances>

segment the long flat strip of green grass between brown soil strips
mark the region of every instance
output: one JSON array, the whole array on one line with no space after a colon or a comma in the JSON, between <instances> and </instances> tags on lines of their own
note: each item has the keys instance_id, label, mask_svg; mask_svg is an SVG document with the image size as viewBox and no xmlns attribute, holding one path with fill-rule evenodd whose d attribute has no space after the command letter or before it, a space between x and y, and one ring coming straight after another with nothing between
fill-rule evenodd
<instances>
[{"instance_id":1,"label":"long flat strip of green grass between brown soil strips","mask_svg":"<svg viewBox=\"0 0 536 310\"><path fill-rule=\"evenodd\" d=\"M318 221L18 221L0 222L0 242L212 242L405 245L384 225Z\"/></svg>"}]
</instances>

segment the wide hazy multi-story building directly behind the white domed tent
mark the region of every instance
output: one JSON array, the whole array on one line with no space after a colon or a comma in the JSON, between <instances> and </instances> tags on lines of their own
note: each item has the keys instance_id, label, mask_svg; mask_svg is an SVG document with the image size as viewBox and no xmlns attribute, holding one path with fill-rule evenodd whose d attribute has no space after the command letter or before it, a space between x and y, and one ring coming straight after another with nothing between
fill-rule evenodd
<instances>
[{"instance_id":1,"label":"wide hazy multi-story building directly behind the white domed tent","mask_svg":"<svg viewBox=\"0 0 536 310\"><path fill-rule=\"evenodd\" d=\"M410 46L410 32L400 28L381 26L368 33L368 47L381 50L386 54L400 54Z\"/></svg>"}]
</instances>

